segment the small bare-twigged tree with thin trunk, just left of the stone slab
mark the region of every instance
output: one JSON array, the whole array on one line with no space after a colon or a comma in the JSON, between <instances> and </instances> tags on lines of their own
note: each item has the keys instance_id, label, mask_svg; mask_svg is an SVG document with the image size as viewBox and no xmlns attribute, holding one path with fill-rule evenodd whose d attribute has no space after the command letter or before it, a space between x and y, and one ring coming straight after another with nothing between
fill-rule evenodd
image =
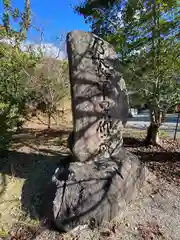
<instances>
[{"instance_id":1,"label":"small bare-twigged tree with thin trunk, just left of the stone slab","mask_svg":"<svg viewBox=\"0 0 180 240\"><path fill-rule=\"evenodd\" d=\"M44 58L37 66L35 76L29 86L34 91L36 109L46 113L48 129L51 118L58 112L60 101L69 90L68 62L53 58Z\"/></svg>"}]
</instances>

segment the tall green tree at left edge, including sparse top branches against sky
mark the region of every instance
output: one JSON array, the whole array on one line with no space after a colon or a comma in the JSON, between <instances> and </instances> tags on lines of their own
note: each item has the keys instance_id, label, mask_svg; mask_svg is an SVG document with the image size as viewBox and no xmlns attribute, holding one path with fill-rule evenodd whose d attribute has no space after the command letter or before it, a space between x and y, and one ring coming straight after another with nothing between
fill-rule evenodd
<instances>
[{"instance_id":1,"label":"tall green tree at left edge, including sparse top branches against sky","mask_svg":"<svg viewBox=\"0 0 180 240\"><path fill-rule=\"evenodd\" d=\"M30 94L27 88L29 72L38 61L34 54L22 52L20 49L30 26L29 0L25 2L23 13L12 9L8 0L4 0L3 5L3 25L0 26L0 152L8 147L12 130L22 124L25 104ZM19 32L13 30L10 24L12 20L19 22ZM8 41L12 44L7 44Z\"/></svg>"}]
</instances>

